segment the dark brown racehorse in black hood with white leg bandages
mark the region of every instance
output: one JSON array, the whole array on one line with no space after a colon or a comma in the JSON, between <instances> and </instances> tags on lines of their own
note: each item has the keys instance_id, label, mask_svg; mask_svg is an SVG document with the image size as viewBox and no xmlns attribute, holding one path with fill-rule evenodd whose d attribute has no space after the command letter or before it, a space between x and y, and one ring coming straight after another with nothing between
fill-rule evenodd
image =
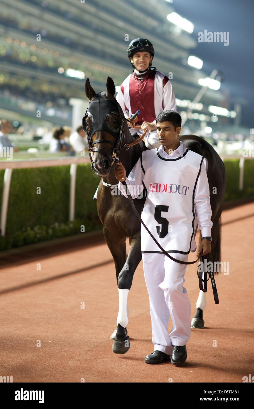
<instances>
[{"instance_id":1,"label":"dark brown racehorse in black hood with white leg bandages","mask_svg":"<svg viewBox=\"0 0 254 409\"><path fill-rule=\"evenodd\" d=\"M116 279L119 290L119 312L117 328L110 336L113 339L112 351L124 354L130 348L127 331L128 290L141 256L140 221L135 215L130 202L117 192L118 180L114 169L116 159L121 161L128 177L133 166L146 150L144 140L137 142L139 135L131 135L121 106L115 99L115 84L108 77L106 92L95 93L89 79L86 79L85 93L89 105L83 117L83 129L87 133L87 144L91 159L91 169L100 176L97 191L97 212L103 224L103 234L115 263ZM139 127L140 128L140 127ZM92 133L92 135L90 135ZM212 243L207 260L221 260L221 212L225 193L225 166L212 145L196 135L184 135L179 138L186 148L204 156L208 162L208 182L212 208ZM132 146L130 146L132 144ZM97 147L94 147L96 145ZM113 193L114 192L114 193ZM139 215L144 206L145 197L139 195L133 200ZM126 238L129 238L130 250L126 255ZM214 265L214 264L213 264ZM216 272L218 273L218 272ZM206 306L205 292L199 291L196 313L191 321L194 328L203 328L203 310ZM196 304L197 306L197 304ZM123 319L124 317L124 319ZM123 324L124 323L124 324ZM123 325L121 325L123 324Z\"/></svg>"}]
</instances>

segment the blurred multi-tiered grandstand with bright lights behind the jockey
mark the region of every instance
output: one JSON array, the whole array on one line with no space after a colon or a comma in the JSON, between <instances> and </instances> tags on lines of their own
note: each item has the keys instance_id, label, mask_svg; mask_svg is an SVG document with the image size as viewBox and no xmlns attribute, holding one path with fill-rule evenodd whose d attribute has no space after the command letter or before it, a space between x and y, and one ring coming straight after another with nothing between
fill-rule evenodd
<instances>
[{"instance_id":1,"label":"blurred multi-tiered grandstand with bright lights behind the jockey","mask_svg":"<svg viewBox=\"0 0 254 409\"><path fill-rule=\"evenodd\" d=\"M182 134L207 137L221 153L238 153L246 138L252 143L250 129L230 109L228 94L208 88L192 104L200 80L211 73L188 63L197 41L167 19L173 3L0 0L0 6L0 119L13 124L11 139L17 146L47 148L45 135L53 126L79 125L88 103L85 79L96 91L105 89L107 76L119 86L132 70L126 51L137 37L151 40L153 65L172 75L178 112L188 118ZM80 110L74 116L73 105ZM45 146L38 145L41 137Z\"/></svg>"}]
</instances>

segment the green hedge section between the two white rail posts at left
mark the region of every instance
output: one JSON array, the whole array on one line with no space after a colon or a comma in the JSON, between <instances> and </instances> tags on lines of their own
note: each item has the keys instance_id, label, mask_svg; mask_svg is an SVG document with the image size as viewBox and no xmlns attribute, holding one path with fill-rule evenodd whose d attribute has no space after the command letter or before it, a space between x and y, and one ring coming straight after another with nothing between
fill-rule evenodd
<instances>
[{"instance_id":1,"label":"green hedge section between the two white rail posts at left","mask_svg":"<svg viewBox=\"0 0 254 409\"><path fill-rule=\"evenodd\" d=\"M70 166L13 169L6 231L68 220L69 175Z\"/></svg>"}]
</instances>

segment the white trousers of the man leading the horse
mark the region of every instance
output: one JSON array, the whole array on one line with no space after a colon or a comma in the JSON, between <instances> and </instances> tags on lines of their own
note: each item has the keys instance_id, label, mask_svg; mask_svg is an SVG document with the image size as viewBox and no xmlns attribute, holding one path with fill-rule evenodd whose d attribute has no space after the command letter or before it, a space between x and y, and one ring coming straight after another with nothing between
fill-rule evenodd
<instances>
[{"instance_id":1,"label":"white trousers of the man leading the horse","mask_svg":"<svg viewBox=\"0 0 254 409\"><path fill-rule=\"evenodd\" d=\"M170 253L181 261L188 254ZM186 264L170 260L165 254L142 253L144 276L150 301L154 351L172 353L172 345L186 345L190 339L191 305L186 291ZM168 333L169 316L172 330Z\"/></svg>"}]
</instances>

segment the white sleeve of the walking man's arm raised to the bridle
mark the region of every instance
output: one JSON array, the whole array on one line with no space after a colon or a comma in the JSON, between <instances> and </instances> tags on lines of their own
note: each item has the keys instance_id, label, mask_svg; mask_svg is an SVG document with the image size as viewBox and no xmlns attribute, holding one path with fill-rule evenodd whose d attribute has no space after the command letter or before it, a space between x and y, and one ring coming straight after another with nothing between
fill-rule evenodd
<instances>
[{"instance_id":1,"label":"white sleeve of the walking man's arm raised to the bridle","mask_svg":"<svg viewBox=\"0 0 254 409\"><path fill-rule=\"evenodd\" d=\"M136 199L144 189L144 186L142 184L143 178L144 172L142 171L141 160L139 158L137 163L133 166L133 169L130 171L128 178L126 178L125 180L133 199ZM128 196L126 195L125 187L121 184L121 182L118 183L118 189L124 194L126 198L128 198Z\"/></svg>"}]
</instances>

